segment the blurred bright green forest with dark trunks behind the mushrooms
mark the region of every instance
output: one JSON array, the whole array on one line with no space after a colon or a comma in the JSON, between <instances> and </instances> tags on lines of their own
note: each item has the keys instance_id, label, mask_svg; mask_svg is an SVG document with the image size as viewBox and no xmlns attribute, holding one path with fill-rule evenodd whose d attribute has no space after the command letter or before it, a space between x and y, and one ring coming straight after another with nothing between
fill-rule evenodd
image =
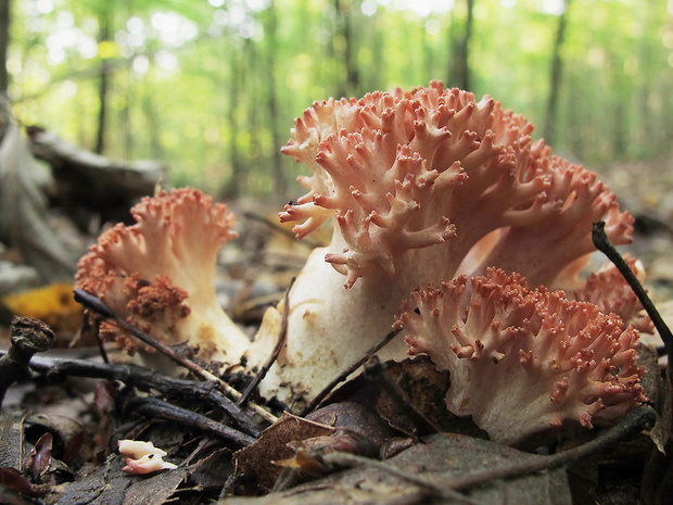
<instances>
[{"instance_id":1,"label":"blurred bright green forest with dark trunks behind the mushrooms","mask_svg":"<svg viewBox=\"0 0 673 505\"><path fill-rule=\"evenodd\" d=\"M16 118L172 184L299 194L279 153L314 100L441 79L589 167L673 138L673 0L2 0Z\"/></svg>"}]
</instances>

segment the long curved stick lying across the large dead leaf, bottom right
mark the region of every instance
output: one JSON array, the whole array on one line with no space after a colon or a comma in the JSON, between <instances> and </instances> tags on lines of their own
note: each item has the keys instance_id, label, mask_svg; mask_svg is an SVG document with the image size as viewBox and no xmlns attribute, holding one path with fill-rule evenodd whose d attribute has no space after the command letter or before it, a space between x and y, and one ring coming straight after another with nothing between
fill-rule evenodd
<instances>
[{"instance_id":1,"label":"long curved stick lying across the large dead leaf, bottom right","mask_svg":"<svg viewBox=\"0 0 673 505\"><path fill-rule=\"evenodd\" d=\"M543 470L553 470L561 466L568 465L575 459L586 456L588 454L597 453L599 451L615 446L618 443L627 440L636 433L643 431L646 427L652 426L657 420L657 414L650 406L642 406L634 411L631 411L620 422L605 431L596 439L587 442L577 447L557 453L550 456L532 456L531 459L515 463L506 466L498 466L496 468L490 468L485 470L475 471L473 474L467 474L462 476L449 477L448 480L437 481L430 480L423 477L411 476L408 471L403 471L399 468L391 465L386 462L379 462L370 459L364 456L356 456L345 453L330 453L322 456L322 459L328 464L358 466L369 465L386 471L396 477L403 478L409 482L415 483L429 489L433 494L437 496L453 497L453 495L446 495L448 490L459 490L471 488L473 485L491 482L496 479L507 479L512 477L520 477L528 474L533 474Z\"/></svg>"}]
</instances>

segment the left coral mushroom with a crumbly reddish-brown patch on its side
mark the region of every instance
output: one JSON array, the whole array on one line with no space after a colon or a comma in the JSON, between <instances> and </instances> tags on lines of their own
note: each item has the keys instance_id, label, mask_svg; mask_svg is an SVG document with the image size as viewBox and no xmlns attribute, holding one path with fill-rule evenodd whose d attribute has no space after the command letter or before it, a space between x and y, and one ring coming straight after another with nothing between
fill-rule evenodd
<instances>
[{"instance_id":1,"label":"left coral mushroom with a crumbly reddish-brown patch on its side","mask_svg":"<svg viewBox=\"0 0 673 505\"><path fill-rule=\"evenodd\" d=\"M223 311L214 286L219 249L237 237L233 214L192 188L145 197L131 214L137 224L107 230L79 261L75 288L164 343L238 363L250 339ZM113 323L103 321L101 334L135 351Z\"/></svg>"}]
</instances>

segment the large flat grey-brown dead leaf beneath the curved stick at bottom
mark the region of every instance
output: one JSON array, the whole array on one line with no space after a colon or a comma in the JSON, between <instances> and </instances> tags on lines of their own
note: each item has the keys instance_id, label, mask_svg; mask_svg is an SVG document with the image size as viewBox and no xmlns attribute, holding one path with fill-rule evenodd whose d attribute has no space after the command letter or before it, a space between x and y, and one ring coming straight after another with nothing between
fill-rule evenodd
<instances>
[{"instance_id":1,"label":"large flat grey-brown dead leaf beneath the curved stick at bottom","mask_svg":"<svg viewBox=\"0 0 673 505\"><path fill-rule=\"evenodd\" d=\"M378 467L363 465L281 493L271 493L262 497L225 498L220 500L218 505L300 505L306 503L453 505L465 503L465 501L437 496L434 490L450 490L452 482L460 476L522 464L541 457L460 434L433 434L424 439L424 442L384 462L385 465L391 465L397 475ZM412 479L422 479L434 489L430 485L419 485L399 476L399 472ZM465 497L469 497L469 503L481 505L572 504L564 468L512 477L507 480L485 480L470 488Z\"/></svg>"}]
</instances>

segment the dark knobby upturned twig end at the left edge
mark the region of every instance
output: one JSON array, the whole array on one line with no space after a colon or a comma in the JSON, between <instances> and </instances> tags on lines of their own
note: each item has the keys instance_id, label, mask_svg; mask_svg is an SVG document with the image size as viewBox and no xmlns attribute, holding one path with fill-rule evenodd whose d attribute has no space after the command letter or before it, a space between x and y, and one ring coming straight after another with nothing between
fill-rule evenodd
<instances>
[{"instance_id":1,"label":"dark knobby upturned twig end at the left edge","mask_svg":"<svg viewBox=\"0 0 673 505\"><path fill-rule=\"evenodd\" d=\"M30 377L28 365L35 353L51 348L54 332L39 319L14 316L10 327L11 346L0 357L0 407L7 390L17 380Z\"/></svg>"}]
</instances>

